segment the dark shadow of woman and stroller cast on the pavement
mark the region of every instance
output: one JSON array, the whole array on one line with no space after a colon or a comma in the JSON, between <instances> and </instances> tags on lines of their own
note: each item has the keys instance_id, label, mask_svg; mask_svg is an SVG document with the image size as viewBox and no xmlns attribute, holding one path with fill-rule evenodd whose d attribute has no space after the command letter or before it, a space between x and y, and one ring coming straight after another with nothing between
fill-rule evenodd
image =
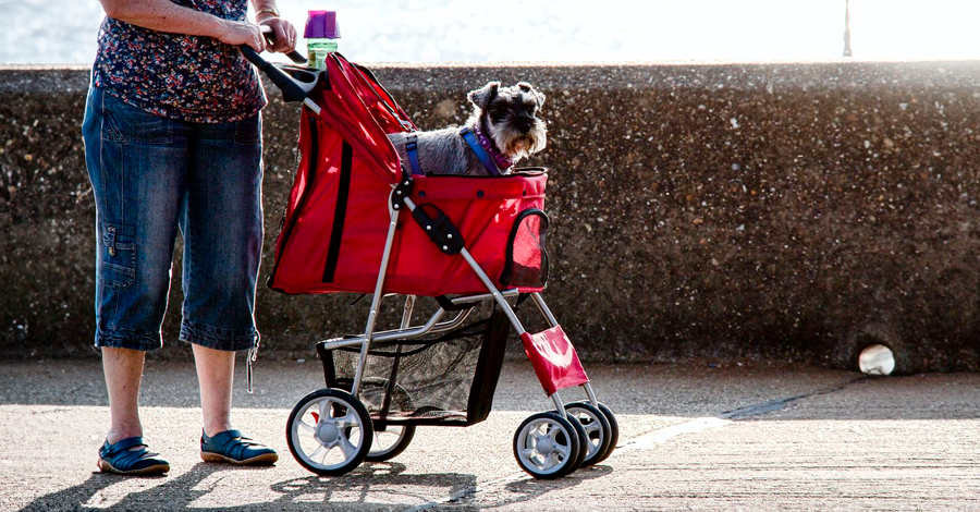
<instances>
[{"instance_id":1,"label":"dark shadow of woman and stroller cast on the pavement","mask_svg":"<svg viewBox=\"0 0 980 512\"><path fill-rule=\"evenodd\" d=\"M23 511L163 511L163 510L235 510L235 511L402 511L420 505L451 508L455 511L476 511L503 504L530 501L554 490L574 487L585 480L598 478L612 472L609 466L579 470L569 477L558 480L531 480L522 478L505 485L507 492L492 503L471 503L476 495L475 475L461 473L406 474L400 463L364 464L354 472L340 477L308 476L275 481L268 489L277 498L256 503L213 505L206 502L211 492L212 474L229 471L228 466L198 463L191 471L176 477L132 477L93 473L84 483L50 495L41 496L28 503ZM240 472L262 472L264 468L235 468ZM260 481L256 475L250 480ZM139 489L128 493L110 496L111 486L137 480ZM206 481L207 480L207 481ZM159 483L159 484L158 484ZM211 483L210 485L208 483ZM155 485L156 484L156 485ZM446 492L446 489L450 489ZM257 489L242 489L248 496ZM258 493L268 496L259 490ZM122 496L119 496L122 495ZM431 500L444 500L434 503ZM196 502L205 498L205 502ZM247 501L247 499L243 500Z\"/></svg>"}]
</instances>

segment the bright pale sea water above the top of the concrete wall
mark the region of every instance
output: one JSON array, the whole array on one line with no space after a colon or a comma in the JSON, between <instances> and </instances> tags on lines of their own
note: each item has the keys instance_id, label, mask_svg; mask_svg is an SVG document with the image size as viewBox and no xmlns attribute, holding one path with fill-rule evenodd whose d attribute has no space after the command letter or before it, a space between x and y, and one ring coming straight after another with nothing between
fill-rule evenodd
<instances>
[{"instance_id":1,"label":"bright pale sea water above the top of the concrete wall","mask_svg":"<svg viewBox=\"0 0 980 512\"><path fill-rule=\"evenodd\" d=\"M280 3L301 32L308 10L336 11L358 62L800 61L844 49L845 0ZM97 0L0 0L0 64L90 64L102 16ZM978 17L980 2L852 0L854 58L977 59Z\"/></svg>"}]
</instances>

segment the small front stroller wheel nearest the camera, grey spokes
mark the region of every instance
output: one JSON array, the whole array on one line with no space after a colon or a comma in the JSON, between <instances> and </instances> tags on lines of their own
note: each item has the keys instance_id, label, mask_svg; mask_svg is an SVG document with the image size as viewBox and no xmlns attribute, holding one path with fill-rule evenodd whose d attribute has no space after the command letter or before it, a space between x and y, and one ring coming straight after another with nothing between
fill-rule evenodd
<instances>
[{"instance_id":1,"label":"small front stroller wheel nearest the camera, grey spokes","mask_svg":"<svg viewBox=\"0 0 980 512\"><path fill-rule=\"evenodd\" d=\"M514 458L535 478L560 478L581 464L578 439L577 429L558 413L534 414L514 434Z\"/></svg>"}]
</instances>

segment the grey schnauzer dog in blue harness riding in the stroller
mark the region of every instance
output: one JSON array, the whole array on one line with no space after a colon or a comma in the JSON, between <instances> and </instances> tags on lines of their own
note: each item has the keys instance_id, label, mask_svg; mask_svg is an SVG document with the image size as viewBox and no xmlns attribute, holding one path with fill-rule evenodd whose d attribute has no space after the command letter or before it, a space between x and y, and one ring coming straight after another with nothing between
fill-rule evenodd
<instances>
[{"instance_id":1,"label":"grey schnauzer dog in blue harness riding in the stroller","mask_svg":"<svg viewBox=\"0 0 980 512\"><path fill-rule=\"evenodd\" d=\"M490 82L466 97L473 115L462 127L388 135L405 172L506 174L517 160L544 149L548 131L537 117L544 95L530 84L501 87L500 82ZM414 162L408 150L413 142Z\"/></svg>"}]
</instances>

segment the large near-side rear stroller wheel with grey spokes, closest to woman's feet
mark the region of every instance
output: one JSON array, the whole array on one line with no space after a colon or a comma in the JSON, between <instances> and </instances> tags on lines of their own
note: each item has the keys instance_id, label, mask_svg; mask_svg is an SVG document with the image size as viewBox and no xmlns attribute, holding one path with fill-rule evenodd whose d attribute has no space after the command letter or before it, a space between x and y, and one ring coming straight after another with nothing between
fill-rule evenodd
<instances>
[{"instance_id":1,"label":"large near-side rear stroller wheel with grey spokes, closest to woman's feet","mask_svg":"<svg viewBox=\"0 0 980 512\"><path fill-rule=\"evenodd\" d=\"M303 397L286 423L286 442L293 458L318 475L343 475L357 467L367 456L372 437L367 409L339 389L321 389Z\"/></svg>"}]
</instances>

